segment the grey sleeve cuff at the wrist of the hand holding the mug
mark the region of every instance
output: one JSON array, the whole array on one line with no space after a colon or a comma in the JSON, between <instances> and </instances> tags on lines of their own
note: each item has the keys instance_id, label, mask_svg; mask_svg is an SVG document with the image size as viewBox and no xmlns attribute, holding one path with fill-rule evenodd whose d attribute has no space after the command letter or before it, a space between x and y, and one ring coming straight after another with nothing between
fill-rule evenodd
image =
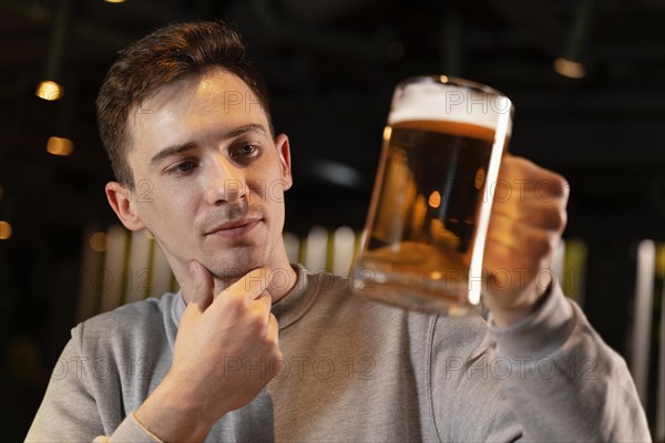
<instances>
[{"instance_id":1,"label":"grey sleeve cuff at the wrist of the hand holding the mug","mask_svg":"<svg viewBox=\"0 0 665 443\"><path fill-rule=\"evenodd\" d=\"M546 299L541 306L515 324L497 327L490 313L490 330L497 338L499 354L545 357L565 342L574 324L571 301L556 281L543 297Z\"/></svg>"}]
</instances>

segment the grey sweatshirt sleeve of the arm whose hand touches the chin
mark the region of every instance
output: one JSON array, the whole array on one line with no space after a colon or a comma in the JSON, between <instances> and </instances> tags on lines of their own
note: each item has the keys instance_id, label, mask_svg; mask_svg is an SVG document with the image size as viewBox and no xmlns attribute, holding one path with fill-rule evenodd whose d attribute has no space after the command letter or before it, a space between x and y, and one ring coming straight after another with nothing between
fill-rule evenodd
<instances>
[{"instance_id":1,"label":"grey sweatshirt sleeve of the arm whose hand touches the chin","mask_svg":"<svg viewBox=\"0 0 665 443\"><path fill-rule=\"evenodd\" d=\"M25 442L160 442L133 414L124 418L112 434L104 430L88 359L76 344L76 333L72 336L55 363Z\"/></svg>"}]
</instances>

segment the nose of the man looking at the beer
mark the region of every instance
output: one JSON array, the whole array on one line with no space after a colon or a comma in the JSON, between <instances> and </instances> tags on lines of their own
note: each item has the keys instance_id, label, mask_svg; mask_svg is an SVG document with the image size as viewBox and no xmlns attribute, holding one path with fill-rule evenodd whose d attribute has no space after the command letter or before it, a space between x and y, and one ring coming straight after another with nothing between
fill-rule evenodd
<instances>
[{"instance_id":1,"label":"nose of the man looking at the beer","mask_svg":"<svg viewBox=\"0 0 665 443\"><path fill-rule=\"evenodd\" d=\"M211 205L237 203L247 195L245 174L223 155L215 156L208 171L206 200Z\"/></svg>"}]
</instances>

